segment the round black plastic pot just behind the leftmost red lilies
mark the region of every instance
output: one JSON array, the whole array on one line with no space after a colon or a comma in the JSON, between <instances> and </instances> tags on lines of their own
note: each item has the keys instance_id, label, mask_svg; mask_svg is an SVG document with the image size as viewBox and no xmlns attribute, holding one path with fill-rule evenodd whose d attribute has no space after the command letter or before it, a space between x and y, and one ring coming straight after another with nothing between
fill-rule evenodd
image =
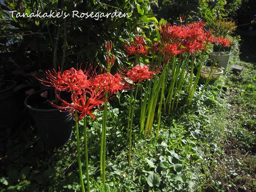
<instances>
[{"instance_id":1,"label":"round black plastic pot just behind the leftmost red lilies","mask_svg":"<svg viewBox=\"0 0 256 192\"><path fill-rule=\"evenodd\" d=\"M25 99L25 106L35 120L38 135L44 143L55 147L62 146L70 140L73 128L73 116L70 111L61 112L58 108L38 109L31 107L32 101L40 100L40 90Z\"/></svg>"}]
</instances>

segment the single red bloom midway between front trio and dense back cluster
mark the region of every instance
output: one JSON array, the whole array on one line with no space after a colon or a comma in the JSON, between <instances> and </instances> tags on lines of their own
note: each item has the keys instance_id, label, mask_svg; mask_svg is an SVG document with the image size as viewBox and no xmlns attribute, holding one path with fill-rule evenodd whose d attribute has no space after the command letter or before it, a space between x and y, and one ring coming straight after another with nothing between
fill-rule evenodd
<instances>
[{"instance_id":1,"label":"single red bloom midway between front trio and dense back cluster","mask_svg":"<svg viewBox=\"0 0 256 192\"><path fill-rule=\"evenodd\" d=\"M149 67L146 65L137 65L132 69L128 70L126 75L128 79L133 82L141 82L145 79L152 79L156 76L157 72L149 71Z\"/></svg>"}]
</instances>

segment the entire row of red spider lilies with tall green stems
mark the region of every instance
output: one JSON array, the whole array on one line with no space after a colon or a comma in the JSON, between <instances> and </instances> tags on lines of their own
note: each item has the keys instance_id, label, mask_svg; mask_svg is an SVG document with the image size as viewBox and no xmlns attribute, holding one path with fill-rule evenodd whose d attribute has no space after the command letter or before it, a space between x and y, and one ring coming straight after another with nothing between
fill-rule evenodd
<instances>
[{"instance_id":1,"label":"entire row of red spider lilies with tall green stems","mask_svg":"<svg viewBox=\"0 0 256 192\"><path fill-rule=\"evenodd\" d=\"M155 39L157 41L147 39L146 42L143 36L136 36L134 41L124 46L128 58L134 63L134 67L131 69L126 68L126 70L118 70L118 73L115 75L110 73L111 67L115 62L115 56L111 53L111 42L105 42L107 51L106 66L101 74L96 73L96 70L92 70L92 67L89 67L85 71L74 68L63 72L56 72L55 70L46 71L46 79L41 80L44 84L55 87L55 90L58 91L72 93L70 101L65 101L60 96L57 96L61 101L61 105L55 103L52 103L52 105L63 110L72 111L76 119L76 139L82 191L84 191L84 182L81 170L78 122L84 118L87 190L90 191L87 164L86 116L91 116L95 119L93 111L104 105L100 172L102 182L105 183L106 114L108 99L119 91L131 89L127 128L129 137L128 162L130 163L132 119L138 89L141 88L140 131L144 134L144 138L151 133L158 104L158 136L162 105L164 107L163 111L169 108L168 112L170 113L175 106L177 108L181 93L185 96L185 101L188 104L192 102L208 45L211 43L221 46L230 45L227 39L213 38L211 32L204 30L204 25L204 22L201 21L180 26L171 26L168 23L162 23L156 29L157 37ZM148 64L145 63L145 58L150 61ZM196 76L193 76L194 64L197 60L199 68ZM124 68L122 67L122 69ZM150 79L154 80L152 81ZM135 90L135 87L136 92L134 96L133 90Z\"/></svg>"}]
</instances>

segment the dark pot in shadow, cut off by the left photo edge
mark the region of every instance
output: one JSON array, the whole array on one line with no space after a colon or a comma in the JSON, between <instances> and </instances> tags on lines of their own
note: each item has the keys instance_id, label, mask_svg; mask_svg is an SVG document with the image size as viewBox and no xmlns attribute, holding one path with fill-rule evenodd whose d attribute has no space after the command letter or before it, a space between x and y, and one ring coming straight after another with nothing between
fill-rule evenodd
<instances>
[{"instance_id":1,"label":"dark pot in shadow, cut off by the left photo edge","mask_svg":"<svg viewBox=\"0 0 256 192\"><path fill-rule=\"evenodd\" d=\"M17 96L13 88L16 86L16 81L3 81L8 85L8 88L0 90L0 128L12 126L17 122L18 109L17 109Z\"/></svg>"}]
</instances>

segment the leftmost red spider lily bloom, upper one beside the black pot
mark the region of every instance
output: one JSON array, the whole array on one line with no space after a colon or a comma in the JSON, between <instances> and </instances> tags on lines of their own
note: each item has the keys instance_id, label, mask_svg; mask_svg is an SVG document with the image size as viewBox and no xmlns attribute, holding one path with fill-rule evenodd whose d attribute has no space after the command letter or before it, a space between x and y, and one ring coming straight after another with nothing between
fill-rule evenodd
<instances>
[{"instance_id":1,"label":"leftmost red spider lily bloom, upper one beside the black pot","mask_svg":"<svg viewBox=\"0 0 256 192\"><path fill-rule=\"evenodd\" d=\"M85 73L83 70L76 70L73 67L70 70L65 70L63 73L55 70L47 70L45 72L46 79L38 79L42 81L42 84L46 86L55 87L56 90L61 91L78 91L81 93L81 89L86 89L91 86L91 80L89 73Z\"/></svg>"}]
</instances>

